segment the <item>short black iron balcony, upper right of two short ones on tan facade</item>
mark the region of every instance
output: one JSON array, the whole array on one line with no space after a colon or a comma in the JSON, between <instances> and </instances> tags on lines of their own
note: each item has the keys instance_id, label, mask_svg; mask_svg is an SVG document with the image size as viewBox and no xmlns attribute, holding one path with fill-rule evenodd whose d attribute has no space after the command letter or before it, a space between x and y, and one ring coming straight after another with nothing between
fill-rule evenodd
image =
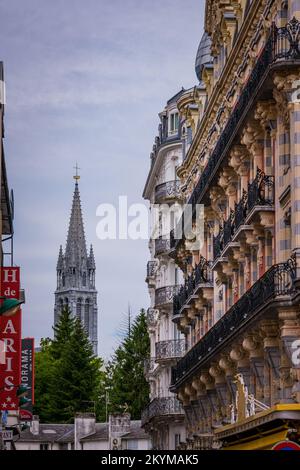
<instances>
[{"instance_id":1,"label":"short black iron balcony, upper right of two short ones on tan facade","mask_svg":"<svg viewBox=\"0 0 300 470\"><path fill-rule=\"evenodd\" d=\"M219 234L214 237L214 260L221 257L226 246L234 241L240 227L251 223L257 211L274 209L274 192L274 176L258 170L256 178L248 185L248 192L244 192L242 199L235 204L235 210L231 211Z\"/></svg>"}]
</instances>

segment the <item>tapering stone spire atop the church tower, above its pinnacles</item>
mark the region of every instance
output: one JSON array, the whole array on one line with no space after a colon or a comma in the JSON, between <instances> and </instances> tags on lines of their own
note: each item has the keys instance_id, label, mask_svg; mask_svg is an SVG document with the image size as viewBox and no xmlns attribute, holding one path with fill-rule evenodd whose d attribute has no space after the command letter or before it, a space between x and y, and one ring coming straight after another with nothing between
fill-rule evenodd
<instances>
[{"instance_id":1,"label":"tapering stone spire atop the church tower, above its pinnacles","mask_svg":"<svg viewBox=\"0 0 300 470\"><path fill-rule=\"evenodd\" d=\"M75 183L75 191L73 196L71 217L69 223L69 231L66 245L66 260L67 264L76 265L83 258L86 259L86 243L83 227L83 219L81 212L80 194L78 188L78 181Z\"/></svg>"}]
</instances>

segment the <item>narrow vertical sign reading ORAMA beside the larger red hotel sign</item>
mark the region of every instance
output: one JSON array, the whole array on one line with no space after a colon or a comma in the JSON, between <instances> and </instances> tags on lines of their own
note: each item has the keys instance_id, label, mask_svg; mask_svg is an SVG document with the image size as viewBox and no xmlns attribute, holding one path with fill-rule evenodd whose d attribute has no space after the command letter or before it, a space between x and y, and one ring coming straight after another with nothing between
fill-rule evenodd
<instances>
[{"instance_id":1,"label":"narrow vertical sign reading ORAMA beside the larger red hotel sign","mask_svg":"<svg viewBox=\"0 0 300 470\"><path fill-rule=\"evenodd\" d=\"M28 387L26 398L29 401L20 410L20 418L30 421L34 403L34 338L22 339L21 384Z\"/></svg>"}]
</instances>

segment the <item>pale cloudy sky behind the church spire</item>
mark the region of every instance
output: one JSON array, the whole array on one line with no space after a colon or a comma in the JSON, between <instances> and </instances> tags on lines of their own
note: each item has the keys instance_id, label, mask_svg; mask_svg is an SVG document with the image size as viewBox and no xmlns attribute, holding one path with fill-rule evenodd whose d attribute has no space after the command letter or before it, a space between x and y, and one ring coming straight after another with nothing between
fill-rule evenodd
<instances>
[{"instance_id":1,"label":"pale cloudy sky behind the church spire","mask_svg":"<svg viewBox=\"0 0 300 470\"><path fill-rule=\"evenodd\" d=\"M147 308L147 242L98 240L96 208L119 195L142 202L157 114L182 86L196 84L203 12L203 0L0 1L24 336L52 335L76 161L97 263L99 353L113 351L128 302L134 313Z\"/></svg>"}]
</instances>

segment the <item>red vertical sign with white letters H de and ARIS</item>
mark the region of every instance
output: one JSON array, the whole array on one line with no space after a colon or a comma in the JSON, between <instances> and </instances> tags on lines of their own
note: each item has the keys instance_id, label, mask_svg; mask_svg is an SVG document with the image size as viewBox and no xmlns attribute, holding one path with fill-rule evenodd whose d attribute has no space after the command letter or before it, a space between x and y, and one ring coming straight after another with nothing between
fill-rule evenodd
<instances>
[{"instance_id":1,"label":"red vertical sign with white letters H de and ARIS","mask_svg":"<svg viewBox=\"0 0 300 470\"><path fill-rule=\"evenodd\" d=\"M1 268L0 295L20 298L20 268ZM18 409L16 391L21 381L21 309L0 316L0 341L5 343L5 364L0 364L0 411Z\"/></svg>"}]
</instances>

